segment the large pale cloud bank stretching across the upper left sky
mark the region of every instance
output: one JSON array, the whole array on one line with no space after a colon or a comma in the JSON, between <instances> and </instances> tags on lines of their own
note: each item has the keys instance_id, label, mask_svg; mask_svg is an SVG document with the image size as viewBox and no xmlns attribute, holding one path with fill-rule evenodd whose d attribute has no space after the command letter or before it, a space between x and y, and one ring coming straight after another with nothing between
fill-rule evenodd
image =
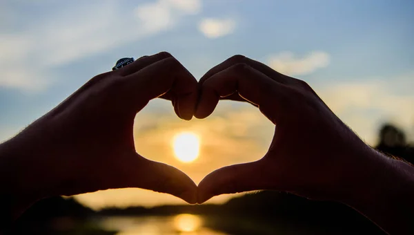
<instances>
[{"instance_id":1,"label":"large pale cloud bank stretching across the upper left sky","mask_svg":"<svg viewBox=\"0 0 414 235\"><path fill-rule=\"evenodd\" d=\"M159 0L135 8L99 1L45 12L26 28L0 32L0 88L43 91L53 82L46 79L52 68L172 29L200 10L200 0Z\"/></svg>"}]
</instances>

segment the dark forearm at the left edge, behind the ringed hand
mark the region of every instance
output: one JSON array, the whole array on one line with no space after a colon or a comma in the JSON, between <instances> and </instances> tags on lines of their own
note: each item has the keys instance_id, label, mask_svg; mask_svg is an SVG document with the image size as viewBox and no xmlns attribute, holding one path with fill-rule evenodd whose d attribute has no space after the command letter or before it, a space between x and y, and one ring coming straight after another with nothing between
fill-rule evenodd
<instances>
[{"instance_id":1,"label":"dark forearm at the left edge, behind the ringed hand","mask_svg":"<svg viewBox=\"0 0 414 235\"><path fill-rule=\"evenodd\" d=\"M39 168L41 153L35 147L40 142L29 136L29 133L21 133L0 144L1 225L11 223L46 195L48 182L41 177L46 171Z\"/></svg>"}]
</instances>

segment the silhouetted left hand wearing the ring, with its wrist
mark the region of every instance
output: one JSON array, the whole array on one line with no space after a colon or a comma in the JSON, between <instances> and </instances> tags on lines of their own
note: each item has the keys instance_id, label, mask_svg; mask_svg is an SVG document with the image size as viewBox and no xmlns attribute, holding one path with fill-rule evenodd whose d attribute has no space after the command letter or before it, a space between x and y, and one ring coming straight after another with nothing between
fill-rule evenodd
<instances>
[{"instance_id":1,"label":"silhouetted left hand wearing the ring, with its wrist","mask_svg":"<svg viewBox=\"0 0 414 235\"><path fill-rule=\"evenodd\" d=\"M197 186L185 173L135 152L135 115L160 96L172 100L180 118L193 117L197 80L168 53L141 57L117 71L93 77L2 144L1 169L9 177L4 182L7 186L2 185L3 194L6 191L30 202L54 195L139 187L195 203ZM5 172L8 169L13 172Z\"/></svg>"}]
</instances>

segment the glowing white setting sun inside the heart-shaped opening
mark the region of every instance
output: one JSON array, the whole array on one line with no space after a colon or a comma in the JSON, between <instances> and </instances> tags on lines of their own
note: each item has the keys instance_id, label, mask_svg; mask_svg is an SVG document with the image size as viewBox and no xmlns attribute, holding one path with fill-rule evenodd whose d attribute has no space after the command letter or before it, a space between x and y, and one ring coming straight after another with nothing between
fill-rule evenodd
<instances>
[{"instance_id":1,"label":"glowing white setting sun inside the heart-shaped opening","mask_svg":"<svg viewBox=\"0 0 414 235\"><path fill-rule=\"evenodd\" d=\"M192 132L178 133L172 140L175 157L181 162L193 162L199 155L200 140Z\"/></svg>"}]
</instances>

